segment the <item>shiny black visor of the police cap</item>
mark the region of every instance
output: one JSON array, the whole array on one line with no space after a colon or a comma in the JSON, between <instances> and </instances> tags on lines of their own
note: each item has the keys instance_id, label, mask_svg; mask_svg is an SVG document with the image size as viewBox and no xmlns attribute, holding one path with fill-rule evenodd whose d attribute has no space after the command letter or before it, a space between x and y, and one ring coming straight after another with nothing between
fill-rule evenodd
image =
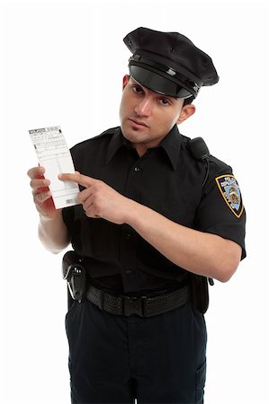
<instances>
[{"instance_id":1,"label":"shiny black visor of the police cap","mask_svg":"<svg viewBox=\"0 0 269 404\"><path fill-rule=\"evenodd\" d=\"M175 98L189 98L193 96L193 93L186 90L181 84L175 83L163 75L158 75L144 67L130 66L130 75L141 85L153 92Z\"/></svg>"}]
</instances>

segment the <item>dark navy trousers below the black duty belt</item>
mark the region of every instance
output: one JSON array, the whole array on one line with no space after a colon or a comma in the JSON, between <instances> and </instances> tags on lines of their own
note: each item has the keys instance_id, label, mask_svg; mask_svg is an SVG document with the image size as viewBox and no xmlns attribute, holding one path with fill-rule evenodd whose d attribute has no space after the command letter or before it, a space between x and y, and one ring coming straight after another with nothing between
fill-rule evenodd
<instances>
[{"instance_id":1,"label":"dark navy trousers below the black duty belt","mask_svg":"<svg viewBox=\"0 0 269 404\"><path fill-rule=\"evenodd\" d=\"M148 318L73 303L66 328L73 404L202 404L207 334L192 303Z\"/></svg>"}]
</instances>

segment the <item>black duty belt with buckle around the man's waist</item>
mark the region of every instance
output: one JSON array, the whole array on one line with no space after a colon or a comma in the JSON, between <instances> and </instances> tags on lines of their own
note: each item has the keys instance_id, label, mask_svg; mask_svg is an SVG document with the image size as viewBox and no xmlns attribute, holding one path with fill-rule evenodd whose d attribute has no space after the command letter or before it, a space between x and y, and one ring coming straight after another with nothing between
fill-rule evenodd
<instances>
[{"instance_id":1,"label":"black duty belt with buckle around the man's waist","mask_svg":"<svg viewBox=\"0 0 269 404\"><path fill-rule=\"evenodd\" d=\"M141 317L150 317L170 312L187 303L189 301L189 287L185 285L172 292L153 296L130 297L122 294L108 294L102 289L90 285L85 297L104 312L124 316L137 314Z\"/></svg>"}]
</instances>

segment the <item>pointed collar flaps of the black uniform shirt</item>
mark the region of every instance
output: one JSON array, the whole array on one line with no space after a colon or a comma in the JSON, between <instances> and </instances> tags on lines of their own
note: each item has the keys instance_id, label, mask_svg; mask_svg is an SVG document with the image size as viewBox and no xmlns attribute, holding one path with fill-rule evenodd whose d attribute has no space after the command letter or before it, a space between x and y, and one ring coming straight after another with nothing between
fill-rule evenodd
<instances>
[{"instance_id":1,"label":"pointed collar flaps of the black uniform shirt","mask_svg":"<svg viewBox=\"0 0 269 404\"><path fill-rule=\"evenodd\" d=\"M169 161L171 162L173 169L175 170L179 157L179 150L182 144L182 136L179 133L177 125L172 127L170 132L166 135L164 140L158 145L165 150ZM106 156L106 163L110 162L114 154L121 148L122 145L130 147L130 143L121 133L121 127L117 127L114 135L112 136L108 152Z\"/></svg>"}]
</instances>

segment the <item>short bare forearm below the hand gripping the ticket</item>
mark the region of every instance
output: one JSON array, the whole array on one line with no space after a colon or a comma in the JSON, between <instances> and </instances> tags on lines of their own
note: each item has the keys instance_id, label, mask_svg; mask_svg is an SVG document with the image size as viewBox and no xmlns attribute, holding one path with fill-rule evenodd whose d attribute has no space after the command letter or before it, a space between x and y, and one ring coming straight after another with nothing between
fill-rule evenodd
<instances>
[{"instance_id":1,"label":"short bare forearm below the hand gripping the ticket","mask_svg":"<svg viewBox=\"0 0 269 404\"><path fill-rule=\"evenodd\" d=\"M40 215L39 238L43 246L54 254L67 247L70 236L61 211L53 219Z\"/></svg>"}]
</instances>

